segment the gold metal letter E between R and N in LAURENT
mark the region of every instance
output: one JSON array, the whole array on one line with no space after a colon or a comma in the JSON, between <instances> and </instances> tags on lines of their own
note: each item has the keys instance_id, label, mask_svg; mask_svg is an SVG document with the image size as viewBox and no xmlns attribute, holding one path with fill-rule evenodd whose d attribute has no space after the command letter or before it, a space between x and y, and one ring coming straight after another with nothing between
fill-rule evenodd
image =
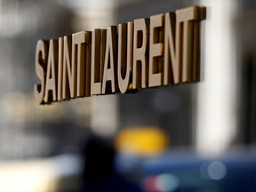
<instances>
[{"instance_id":1,"label":"gold metal letter E between R and N in LAURENT","mask_svg":"<svg viewBox=\"0 0 256 192\"><path fill-rule=\"evenodd\" d=\"M163 84L164 14L150 17L148 86Z\"/></svg>"}]
</instances>

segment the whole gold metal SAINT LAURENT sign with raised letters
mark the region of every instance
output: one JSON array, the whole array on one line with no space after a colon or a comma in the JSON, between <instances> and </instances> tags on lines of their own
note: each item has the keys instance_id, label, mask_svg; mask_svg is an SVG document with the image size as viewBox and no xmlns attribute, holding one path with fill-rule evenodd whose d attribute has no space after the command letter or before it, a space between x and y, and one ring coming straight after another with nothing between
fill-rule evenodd
<instances>
[{"instance_id":1,"label":"whole gold metal SAINT LAURENT sign with raised letters","mask_svg":"<svg viewBox=\"0 0 256 192\"><path fill-rule=\"evenodd\" d=\"M199 81L204 7L38 40L38 104Z\"/></svg>"}]
</instances>

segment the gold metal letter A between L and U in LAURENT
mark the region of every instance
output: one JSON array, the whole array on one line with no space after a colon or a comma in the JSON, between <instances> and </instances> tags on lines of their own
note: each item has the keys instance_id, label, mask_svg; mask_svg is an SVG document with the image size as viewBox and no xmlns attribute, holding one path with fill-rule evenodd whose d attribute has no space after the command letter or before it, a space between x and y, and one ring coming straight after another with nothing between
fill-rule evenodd
<instances>
[{"instance_id":1,"label":"gold metal letter A between L and U in LAURENT","mask_svg":"<svg viewBox=\"0 0 256 192\"><path fill-rule=\"evenodd\" d=\"M102 79L101 93L118 92L116 71L117 71L117 28L116 26L108 27L106 55ZM109 64L109 67L108 67ZM107 84L108 83L108 84ZM111 84L109 84L111 83ZM111 89L110 89L111 86Z\"/></svg>"}]
</instances>

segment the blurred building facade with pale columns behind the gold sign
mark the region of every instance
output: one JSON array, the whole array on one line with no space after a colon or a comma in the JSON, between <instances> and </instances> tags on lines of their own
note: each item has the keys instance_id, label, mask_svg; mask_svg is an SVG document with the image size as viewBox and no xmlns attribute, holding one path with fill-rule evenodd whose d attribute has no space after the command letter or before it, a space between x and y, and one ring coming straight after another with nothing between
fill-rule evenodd
<instances>
[{"instance_id":1,"label":"blurred building facade with pale columns behind the gold sign","mask_svg":"<svg viewBox=\"0 0 256 192\"><path fill-rule=\"evenodd\" d=\"M81 30L207 7L201 25L201 82L60 102L33 102L35 48ZM88 132L162 129L172 147L222 150L255 140L255 3L246 1L1 1L0 158L51 156Z\"/></svg>"}]
</instances>

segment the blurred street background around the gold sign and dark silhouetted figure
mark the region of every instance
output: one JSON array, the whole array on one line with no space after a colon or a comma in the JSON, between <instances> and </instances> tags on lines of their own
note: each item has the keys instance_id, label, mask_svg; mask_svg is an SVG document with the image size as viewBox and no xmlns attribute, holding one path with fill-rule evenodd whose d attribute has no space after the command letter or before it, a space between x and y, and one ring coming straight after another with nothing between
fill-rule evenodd
<instances>
[{"instance_id":1,"label":"blurred street background around the gold sign and dark silhouetted figure","mask_svg":"<svg viewBox=\"0 0 256 192\"><path fill-rule=\"evenodd\" d=\"M200 83L36 106L38 39L191 5ZM256 191L255 20L254 0L0 0L0 192L78 190L92 134L142 191Z\"/></svg>"}]
</instances>

